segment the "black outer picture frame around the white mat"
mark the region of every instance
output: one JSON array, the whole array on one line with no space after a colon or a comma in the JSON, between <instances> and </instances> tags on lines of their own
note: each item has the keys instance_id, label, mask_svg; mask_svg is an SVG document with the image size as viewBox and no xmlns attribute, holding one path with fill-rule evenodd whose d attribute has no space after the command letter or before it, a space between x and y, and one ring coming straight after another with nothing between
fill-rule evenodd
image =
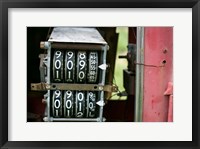
<instances>
[{"instance_id":1,"label":"black outer picture frame around the white mat","mask_svg":"<svg viewBox=\"0 0 200 149\"><path fill-rule=\"evenodd\" d=\"M192 8L192 141L8 141L9 8ZM0 0L0 147L1 148L200 148L199 0ZM19 20L20 21L20 20ZM180 54L181 55L181 54ZM187 62L187 60L185 61ZM187 71L187 68L186 68ZM184 82L184 78L183 78ZM186 109L187 110L187 109ZM187 120L187 119L186 119ZM128 134L127 134L128 135Z\"/></svg>"}]
</instances>

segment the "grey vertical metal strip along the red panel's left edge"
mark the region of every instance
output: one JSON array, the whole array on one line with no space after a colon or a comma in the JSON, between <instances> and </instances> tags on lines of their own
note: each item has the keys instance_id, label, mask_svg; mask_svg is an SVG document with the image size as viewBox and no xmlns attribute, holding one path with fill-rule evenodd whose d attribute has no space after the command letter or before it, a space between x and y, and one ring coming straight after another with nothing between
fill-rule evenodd
<instances>
[{"instance_id":1,"label":"grey vertical metal strip along the red panel's left edge","mask_svg":"<svg viewBox=\"0 0 200 149\"><path fill-rule=\"evenodd\" d=\"M144 63L144 27L137 27L137 51L136 63ZM135 84L135 116L134 121L142 121L143 111L143 79L144 66L136 65L136 84Z\"/></svg>"}]
</instances>

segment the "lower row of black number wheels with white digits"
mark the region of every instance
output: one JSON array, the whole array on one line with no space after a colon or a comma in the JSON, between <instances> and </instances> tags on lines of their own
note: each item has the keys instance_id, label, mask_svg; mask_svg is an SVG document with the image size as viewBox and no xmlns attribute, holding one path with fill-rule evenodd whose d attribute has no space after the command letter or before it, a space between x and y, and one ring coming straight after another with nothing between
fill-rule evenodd
<instances>
[{"instance_id":1,"label":"lower row of black number wheels with white digits","mask_svg":"<svg viewBox=\"0 0 200 149\"><path fill-rule=\"evenodd\" d=\"M52 114L55 118L94 118L97 94L92 91L53 91Z\"/></svg>"}]
</instances>

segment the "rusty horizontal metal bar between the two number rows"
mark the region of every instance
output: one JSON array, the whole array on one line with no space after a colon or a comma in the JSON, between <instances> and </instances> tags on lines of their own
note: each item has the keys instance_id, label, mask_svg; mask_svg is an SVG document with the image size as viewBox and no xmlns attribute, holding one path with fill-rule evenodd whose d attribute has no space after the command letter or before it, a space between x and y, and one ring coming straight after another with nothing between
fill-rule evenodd
<instances>
[{"instance_id":1,"label":"rusty horizontal metal bar between the two number rows","mask_svg":"<svg viewBox=\"0 0 200 149\"><path fill-rule=\"evenodd\" d=\"M69 83L32 83L33 91L45 90L84 90L84 91L105 91L117 92L118 88L115 85L99 85L99 84L69 84Z\"/></svg>"}]
</instances>

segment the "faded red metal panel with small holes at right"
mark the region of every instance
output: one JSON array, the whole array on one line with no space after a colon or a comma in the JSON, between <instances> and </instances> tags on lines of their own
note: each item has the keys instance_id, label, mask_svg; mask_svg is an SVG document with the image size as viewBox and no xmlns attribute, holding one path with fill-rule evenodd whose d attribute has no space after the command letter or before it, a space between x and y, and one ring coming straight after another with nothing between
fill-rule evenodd
<instances>
[{"instance_id":1,"label":"faded red metal panel with small holes at right","mask_svg":"<svg viewBox=\"0 0 200 149\"><path fill-rule=\"evenodd\" d=\"M164 92L173 82L173 27L145 27L144 64L143 121L167 122L169 100Z\"/></svg>"}]
</instances>

